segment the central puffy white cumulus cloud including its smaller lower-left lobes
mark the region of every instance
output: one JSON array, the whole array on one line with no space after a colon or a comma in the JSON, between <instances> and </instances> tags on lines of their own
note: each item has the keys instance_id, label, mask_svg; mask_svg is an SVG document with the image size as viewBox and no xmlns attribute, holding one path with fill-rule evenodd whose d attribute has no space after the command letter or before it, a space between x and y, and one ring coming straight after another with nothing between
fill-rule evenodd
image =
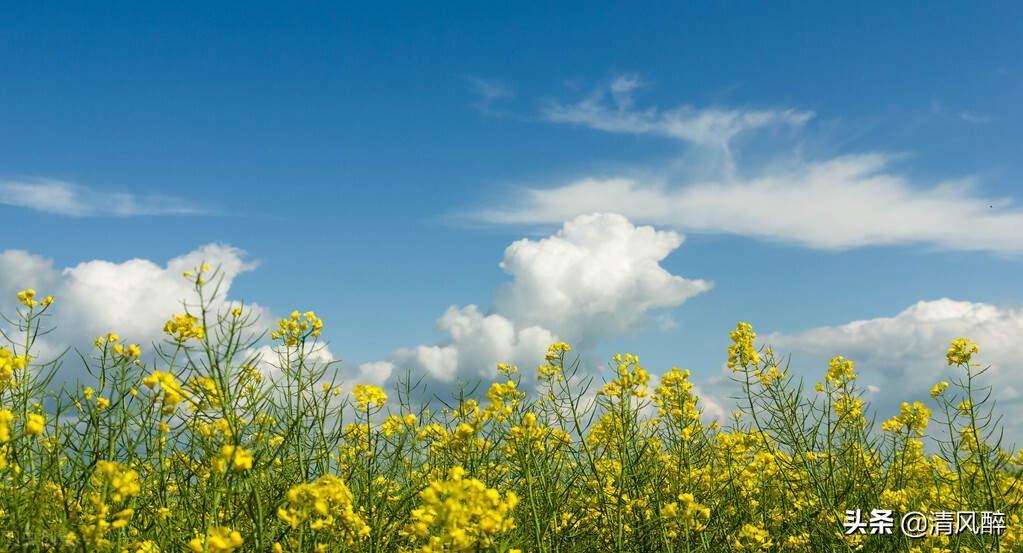
<instances>
[{"instance_id":1,"label":"central puffy white cumulus cloud including its smaller lower-left lobes","mask_svg":"<svg viewBox=\"0 0 1023 553\"><path fill-rule=\"evenodd\" d=\"M495 290L491 313L475 305L448 308L437 321L448 338L396 350L388 368L453 382L492 376L498 363L539 365L558 340L586 350L635 333L655 320L651 310L711 288L660 266L681 243L677 232L607 214L577 217L540 240L519 240L504 251L500 267L511 281Z\"/></svg>"}]
</instances>

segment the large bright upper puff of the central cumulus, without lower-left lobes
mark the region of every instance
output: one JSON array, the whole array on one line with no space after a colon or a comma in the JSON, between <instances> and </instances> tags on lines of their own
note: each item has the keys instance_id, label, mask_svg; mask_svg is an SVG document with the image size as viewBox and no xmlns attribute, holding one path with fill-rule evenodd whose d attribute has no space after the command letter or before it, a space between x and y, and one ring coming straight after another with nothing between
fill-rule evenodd
<instances>
[{"instance_id":1,"label":"large bright upper puff of the central cumulus, without lower-left lobes","mask_svg":"<svg viewBox=\"0 0 1023 553\"><path fill-rule=\"evenodd\" d=\"M505 249L501 268L514 280L494 293L494 310L584 344L634 333L651 322L650 310L711 288L660 266L682 240L620 215L579 216L552 236Z\"/></svg>"}]
</instances>

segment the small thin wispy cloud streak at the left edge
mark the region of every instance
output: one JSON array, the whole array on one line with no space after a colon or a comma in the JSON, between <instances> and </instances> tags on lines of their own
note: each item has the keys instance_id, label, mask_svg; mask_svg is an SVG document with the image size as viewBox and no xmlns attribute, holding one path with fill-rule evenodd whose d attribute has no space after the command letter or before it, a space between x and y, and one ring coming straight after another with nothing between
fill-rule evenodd
<instances>
[{"instance_id":1,"label":"small thin wispy cloud streak at the left edge","mask_svg":"<svg viewBox=\"0 0 1023 553\"><path fill-rule=\"evenodd\" d=\"M0 203L69 217L135 217L205 213L174 197L102 191L55 179L0 181Z\"/></svg>"}]
</instances>

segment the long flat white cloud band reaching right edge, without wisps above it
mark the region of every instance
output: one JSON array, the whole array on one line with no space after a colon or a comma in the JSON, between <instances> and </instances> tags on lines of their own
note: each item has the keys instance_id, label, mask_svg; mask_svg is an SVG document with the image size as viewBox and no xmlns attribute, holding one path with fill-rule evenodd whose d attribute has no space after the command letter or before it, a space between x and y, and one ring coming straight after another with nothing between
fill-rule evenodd
<instances>
[{"instance_id":1,"label":"long flat white cloud band reaching right edge, without wisps above it","mask_svg":"<svg viewBox=\"0 0 1023 553\"><path fill-rule=\"evenodd\" d=\"M816 249L922 243L953 250L1023 254L1023 211L984 198L971 181L921 188L888 172L885 154L804 164L749 180L669 186L632 178L581 179L526 189L513 208L479 218L497 224L553 223L611 210L630 220ZM991 210L996 205L996 210Z\"/></svg>"}]
</instances>

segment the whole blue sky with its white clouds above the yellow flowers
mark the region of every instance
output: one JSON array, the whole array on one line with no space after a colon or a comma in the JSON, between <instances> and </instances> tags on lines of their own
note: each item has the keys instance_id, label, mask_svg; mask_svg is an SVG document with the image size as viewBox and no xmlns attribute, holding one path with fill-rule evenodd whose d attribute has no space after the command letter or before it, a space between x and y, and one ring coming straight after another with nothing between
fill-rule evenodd
<instances>
[{"instance_id":1,"label":"whole blue sky with its white clouds above the yellow flowers","mask_svg":"<svg viewBox=\"0 0 1023 553\"><path fill-rule=\"evenodd\" d=\"M266 322L314 309L350 380L559 338L723 411L748 321L811 382L855 361L882 419L965 335L1019 420L1021 11L9 6L0 307L151 341L206 259Z\"/></svg>"}]
</instances>

